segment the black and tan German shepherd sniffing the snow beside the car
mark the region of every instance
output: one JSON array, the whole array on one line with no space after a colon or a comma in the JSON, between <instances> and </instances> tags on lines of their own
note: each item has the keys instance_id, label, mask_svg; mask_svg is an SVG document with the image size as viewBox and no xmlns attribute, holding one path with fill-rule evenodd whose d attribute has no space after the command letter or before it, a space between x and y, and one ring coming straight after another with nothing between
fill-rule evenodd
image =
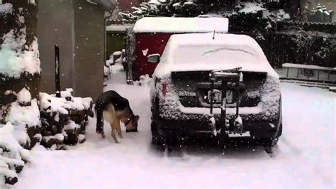
<instances>
[{"instance_id":1,"label":"black and tan German shepherd sniffing the snow beside the car","mask_svg":"<svg viewBox=\"0 0 336 189\"><path fill-rule=\"evenodd\" d=\"M103 120L111 124L111 136L118 143L116 131L123 138L120 121L125 124L126 132L138 132L139 116L134 115L128 99L121 97L117 92L110 90L103 92L96 100L94 107L97 116L96 132L105 138L103 132Z\"/></svg>"}]
</instances>

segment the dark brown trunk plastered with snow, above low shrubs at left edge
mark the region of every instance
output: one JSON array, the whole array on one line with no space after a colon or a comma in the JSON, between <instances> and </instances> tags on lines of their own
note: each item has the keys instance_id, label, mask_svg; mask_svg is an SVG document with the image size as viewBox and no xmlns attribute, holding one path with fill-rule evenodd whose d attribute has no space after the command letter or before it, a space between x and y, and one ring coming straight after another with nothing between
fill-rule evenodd
<instances>
[{"instance_id":1,"label":"dark brown trunk plastered with snow, above low shrubs at left edge","mask_svg":"<svg viewBox=\"0 0 336 189\"><path fill-rule=\"evenodd\" d=\"M35 37L37 9L28 1L0 4L0 105L16 99L4 95L6 90L19 92L22 87L33 97L38 92L40 60Z\"/></svg>"}]
</instances>

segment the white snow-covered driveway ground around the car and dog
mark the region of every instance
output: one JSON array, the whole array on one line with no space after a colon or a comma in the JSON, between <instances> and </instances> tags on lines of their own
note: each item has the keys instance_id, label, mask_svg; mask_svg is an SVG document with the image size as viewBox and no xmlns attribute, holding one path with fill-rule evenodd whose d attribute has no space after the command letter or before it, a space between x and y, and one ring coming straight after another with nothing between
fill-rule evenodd
<instances>
[{"instance_id":1,"label":"white snow-covered driveway ground around the car and dog","mask_svg":"<svg viewBox=\"0 0 336 189\"><path fill-rule=\"evenodd\" d=\"M335 187L335 93L281 84L284 131L273 158L247 142L224 156L203 145L167 156L150 146L149 87L125 85L123 72L112 80L106 90L129 99L139 132L115 144L111 136L101 139L89 119L84 144L67 151L35 146L13 188Z\"/></svg>"}]
</instances>

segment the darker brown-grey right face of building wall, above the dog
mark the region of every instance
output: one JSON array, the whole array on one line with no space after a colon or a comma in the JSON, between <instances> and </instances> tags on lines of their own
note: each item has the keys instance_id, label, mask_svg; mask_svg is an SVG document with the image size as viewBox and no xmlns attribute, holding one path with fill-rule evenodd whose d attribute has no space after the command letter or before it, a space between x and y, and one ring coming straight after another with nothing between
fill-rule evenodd
<instances>
[{"instance_id":1,"label":"darker brown-grey right face of building wall, above the dog","mask_svg":"<svg viewBox=\"0 0 336 189\"><path fill-rule=\"evenodd\" d=\"M96 99L103 91L104 10L74 0L74 95Z\"/></svg>"}]
</instances>

